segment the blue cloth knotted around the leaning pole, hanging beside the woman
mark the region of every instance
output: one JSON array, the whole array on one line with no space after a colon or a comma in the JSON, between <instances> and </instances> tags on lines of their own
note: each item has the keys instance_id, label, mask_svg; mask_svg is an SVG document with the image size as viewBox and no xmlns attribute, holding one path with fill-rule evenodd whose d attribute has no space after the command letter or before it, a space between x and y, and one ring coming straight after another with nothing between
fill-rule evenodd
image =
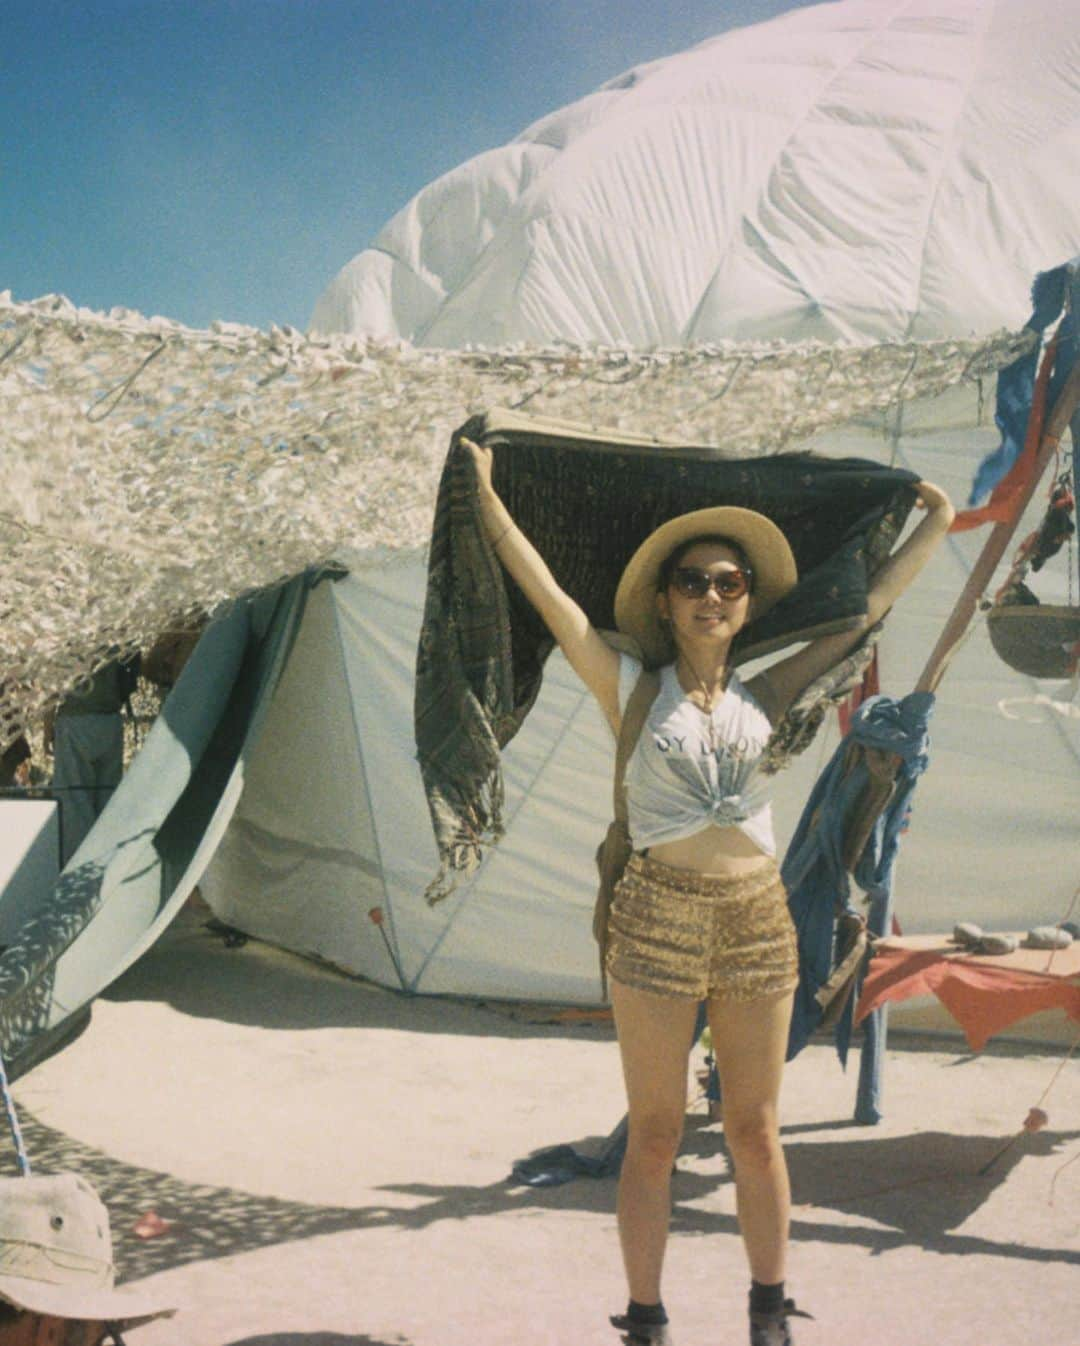
<instances>
[{"instance_id":1,"label":"blue cloth knotted around the leaning pole, hanging beside the woman","mask_svg":"<svg viewBox=\"0 0 1080 1346\"><path fill-rule=\"evenodd\" d=\"M855 883L863 890L870 911L867 925L874 934L886 934L893 919L893 868L900 835L912 808L912 795L929 756L929 719L935 697L912 692L897 701L874 696L855 712L851 730L832 755L815 785L799 821L781 874L788 888L788 906L799 937L799 987L795 993L788 1059L796 1057L821 1023L823 1011L815 995L828 981L834 962L834 940L839 909L854 911L851 884L843 861L844 824L870 785L865 756L850 760L850 747L881 748L900 756L896 789L877 818L870 839L855 867ZM840 1015L835 1042L842 1063L847 1063L851 1042L852 995ZM879 1011L867 1020L863 1043L859 1093L855 1116L859 1121L881 1119L881 1049L885 1019Z\"/></svg>"}]
</instances>

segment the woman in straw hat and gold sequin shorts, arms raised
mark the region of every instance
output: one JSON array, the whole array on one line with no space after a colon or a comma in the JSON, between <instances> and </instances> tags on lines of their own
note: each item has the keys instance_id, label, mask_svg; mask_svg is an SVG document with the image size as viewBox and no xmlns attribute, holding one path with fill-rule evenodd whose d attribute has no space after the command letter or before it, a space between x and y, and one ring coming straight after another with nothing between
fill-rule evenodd
<instances>
[{"instance_id":1,"label":"woman in straw hat and gold sequin shorts, arms raised","mask_svg":"<svg viewBox=\"0 0 1080 1346\"><path fill-rule=\"evenodd\" d=\"M492 486L490 450L462 443L496 555L618 735L641 664L613 650L555 583ZM619 581L619 630L663 664L626 771L634 853L615 890L606 961L629 1102L617 1211L630 1302L611 1319L628 1346L671 1346L660 1273L702 999L750 1263L750 1343L790 1346L777 1098L799 973L755 765L788 705L885 615L948 532L944 491L920 482L918 505L926 517L874 576L859 629L812 641L746 684L730 666L733 642L797 577L774 524L724 506L684 514L645 540Z\"/></svg>"}]
</instances>

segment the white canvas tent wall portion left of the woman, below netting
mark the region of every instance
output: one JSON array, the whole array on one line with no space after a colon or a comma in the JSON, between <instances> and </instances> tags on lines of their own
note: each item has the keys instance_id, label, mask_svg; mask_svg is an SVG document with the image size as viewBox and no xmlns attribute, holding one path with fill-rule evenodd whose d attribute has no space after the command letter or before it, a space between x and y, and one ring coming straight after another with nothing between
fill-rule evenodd
<instances>
[{"instance_id":1,"label":"white canvas tent wall portion left of the woman, below netting","mask_svg":"<svg viewBox=\"0 0 1080 1346\"><path fill-rule=\"evenodd\" d=\"M582 856L603 829L610 735L562 662L506 756L505 844L444 906L424 905L438 863L412 740L424 575L416 552L357 559L311 594L203 896L242 930L386 985L595 1001Z\"/></svg>"}]
</instances>

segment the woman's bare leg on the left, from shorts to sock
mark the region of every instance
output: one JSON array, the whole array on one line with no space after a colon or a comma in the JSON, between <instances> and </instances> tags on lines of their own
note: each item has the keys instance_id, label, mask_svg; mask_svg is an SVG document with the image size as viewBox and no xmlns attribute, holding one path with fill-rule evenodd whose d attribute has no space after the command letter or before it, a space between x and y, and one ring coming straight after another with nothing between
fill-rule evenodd
<instances>
[{"instance_id":1,"label":"woman's bare leg on the left, from shorts to sock","mask_svg":"<svg viewBox=\"0 0 1080 1346\"><path fill-rule=\"evenodd\" d=\"M630 1299L654 1304L671 1224L671 1171L687 1113L696 1003L611 983L629 1102L618 1229Z\"/></svg>"}]
</instances>

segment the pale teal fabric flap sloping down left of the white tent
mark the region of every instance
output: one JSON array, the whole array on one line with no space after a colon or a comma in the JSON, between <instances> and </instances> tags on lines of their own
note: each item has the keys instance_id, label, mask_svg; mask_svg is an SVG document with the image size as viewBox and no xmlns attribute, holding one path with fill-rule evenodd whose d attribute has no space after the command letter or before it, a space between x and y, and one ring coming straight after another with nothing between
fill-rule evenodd
<instances>
[{"instance_id":1,"label":"pale teal fabric flap sloping down left of the white tent","mask_svg":"<svg viewBox=\"0 0 1080 1346\"><path fill-rule=\"evenodd\" d=\"M0 957L0 1051L13 1075L149 948L198 880L312 580L238 602L207 627L106 809Z\"/></svg>"}]
</instances>

